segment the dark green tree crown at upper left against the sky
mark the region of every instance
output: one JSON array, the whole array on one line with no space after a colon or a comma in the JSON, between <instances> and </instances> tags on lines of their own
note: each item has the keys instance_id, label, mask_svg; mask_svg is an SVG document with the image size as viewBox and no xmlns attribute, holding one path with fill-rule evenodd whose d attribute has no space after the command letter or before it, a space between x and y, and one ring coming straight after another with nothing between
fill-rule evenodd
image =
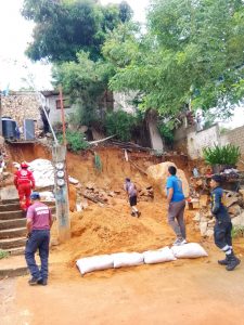
<instances>
[{"instance_id":1,"label":"dark green tree crown at upper left against the sky","mask_svg":"<svg viewBox=\"0 0 244 325\"><path fill-rule=\"evenodd\" d=\"M22 14L35 23L29 58L76 61L84 50L97 61L107 31L129 20L131 9L126 2L104 6L97 0L25 0Z\"/></svg>"}]
</instances>

